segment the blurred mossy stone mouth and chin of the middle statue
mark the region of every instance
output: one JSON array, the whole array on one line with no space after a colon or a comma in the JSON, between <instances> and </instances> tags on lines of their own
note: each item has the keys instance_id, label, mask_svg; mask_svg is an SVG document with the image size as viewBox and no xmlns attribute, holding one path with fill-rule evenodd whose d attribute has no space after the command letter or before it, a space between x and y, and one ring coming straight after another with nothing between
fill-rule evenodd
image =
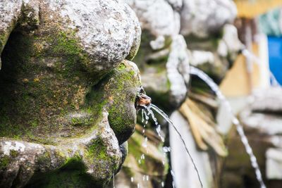
<instances>
[{"instance_id":1,"label":"blurred mossy stone mouth and chin of the middle statue","mask_svg":"<svg viewBox=\"0 0 282 188\"><path fill-rule=\"evenodd\" d=\"M150 48L149 43L146 48ZM142 50L146 50L145 47L137 54L136 62L144 61ZM152 96L153 103L161 108L180 106L190 80L189 56L183 36L173 36L169 46L147 57L150 63L143 69L142 84L149 96Z\"/></svg>"}]
</instances>

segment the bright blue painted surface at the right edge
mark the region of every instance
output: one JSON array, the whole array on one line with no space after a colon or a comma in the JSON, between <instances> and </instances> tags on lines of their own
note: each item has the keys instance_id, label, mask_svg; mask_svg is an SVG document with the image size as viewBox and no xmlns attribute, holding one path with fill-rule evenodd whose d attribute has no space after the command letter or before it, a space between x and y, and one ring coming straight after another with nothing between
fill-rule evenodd
<instances>
[{"instance_id":1,"label":"bright blue painted surface at the right edge","mask_svg":"<svg viewBox=\"0 0 282 188\"><path fill-rule=\"evenodd\" d=\"M269 41L269 68L282 84L282 37L268 37Z\"/></svg>"}]
</instances>

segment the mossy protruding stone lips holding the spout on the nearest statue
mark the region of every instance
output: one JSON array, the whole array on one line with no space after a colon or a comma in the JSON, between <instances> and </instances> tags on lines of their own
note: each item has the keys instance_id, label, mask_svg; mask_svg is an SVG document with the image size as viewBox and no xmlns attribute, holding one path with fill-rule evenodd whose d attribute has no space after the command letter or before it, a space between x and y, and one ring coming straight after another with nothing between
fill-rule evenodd
<instances>
[{"instance_id":1,"label":"mossy protruding stone lips holding the spout on the nearest statue","mask_svg":"<svg viewBox=\"0 0 282 188\"><path fill-rule=\"evenodd\" d=\"M109 124L120 144L133 133L135 97L140 85L133 68L123 61L87 95L87 105L95 115L99 116L103 110L109 112Z\"/></svg>"}]
</instances>

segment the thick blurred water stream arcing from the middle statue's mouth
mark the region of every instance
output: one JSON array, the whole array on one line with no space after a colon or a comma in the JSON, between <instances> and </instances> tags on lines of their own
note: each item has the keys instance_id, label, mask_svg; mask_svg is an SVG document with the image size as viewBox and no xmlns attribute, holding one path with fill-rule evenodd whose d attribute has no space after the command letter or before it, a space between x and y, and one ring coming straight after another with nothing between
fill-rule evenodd
<instances>
[{"instance_id":1,"label":"thick blurred water stream arcing from the middle statue's mouth","mask_svg":"<svg viewBox=\"0 0 282 188\"><path fill-rule=\"evenodd\" d=\"M252 163L252 168L255 169L255 174L256 174L257 180L259 181L260 187L261 188L266 188L266 186L264 184L264 181L262 180L262 173L259 170L259 165L257 164L257 158L255 157L254 153L252 152L252 148L250 147L250 144L247 141L247 137L245 136L245 133L244 133L244 130L243 130L243 126L240 125L240 122L239 122L238 118L235 117L235 115L234 115L234 113L232 111L231 105L229 104L229 102L227 101L225 96L223 96L223 94L219 90L219 87L216 85L216 83L206 73L204 73L202 70L199 70L199 69L191 66L190 67L190 74L191 75L197 75L204 82L206 82L209 85L209 87L211 87L212 91L215 92L215 94L219 98L219 100L223 102L223 105L226 106L228 112L231 113L231 115L232 115L232 122L236 126L236 130L237 130L238 134L241 137L241 142L243 142L243 144L245 146L245 149L247 151L247 154L250 156L250 161Z\"/></svg>"}]
</instances>

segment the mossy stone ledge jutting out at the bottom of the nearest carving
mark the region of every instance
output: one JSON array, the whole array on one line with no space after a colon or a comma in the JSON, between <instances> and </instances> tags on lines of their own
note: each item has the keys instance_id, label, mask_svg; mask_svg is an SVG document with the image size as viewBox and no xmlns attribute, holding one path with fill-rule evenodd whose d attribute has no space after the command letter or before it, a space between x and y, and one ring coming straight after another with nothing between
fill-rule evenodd
<instances>
[{"instance_id":1,"label":"mossy stone ledge jutting out at the bottom of the nearest carving","mask_svg":"<svg viewBox=\"0 0 282 188\"><path fill-rule=\"evenodd\" d=\"M105 184L121 165L121 151L109 127L107 113L103 115L94 131L77 139L66 139L56 146L1 138L1 187L23 187L32 177L38 174L46 177L50 171L68 167L72 161L85 165L85 169L80 170L94 177L93 184ZM42 186L40 181L29 184Z\"/></svg>"}]
</instances>

